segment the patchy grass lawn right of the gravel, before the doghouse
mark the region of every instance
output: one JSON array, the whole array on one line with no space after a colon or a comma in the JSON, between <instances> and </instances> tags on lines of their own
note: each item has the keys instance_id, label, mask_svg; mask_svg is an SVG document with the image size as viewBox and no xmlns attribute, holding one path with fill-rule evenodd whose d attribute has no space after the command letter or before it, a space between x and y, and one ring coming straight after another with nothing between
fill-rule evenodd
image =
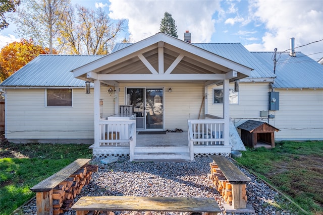
<instances>
[{"instance_id":1,"label":"patchy grass lawn right of the gravel, before the doghouse","mask_svg":"<svg viewBox=\"0 0 323 215\"><path fill-rule=\"evenodd\" d=\"M323 141L282 141L274 149L248 149L236 160L305 211L323 214Z\"/></svg>"}]
</instances>

